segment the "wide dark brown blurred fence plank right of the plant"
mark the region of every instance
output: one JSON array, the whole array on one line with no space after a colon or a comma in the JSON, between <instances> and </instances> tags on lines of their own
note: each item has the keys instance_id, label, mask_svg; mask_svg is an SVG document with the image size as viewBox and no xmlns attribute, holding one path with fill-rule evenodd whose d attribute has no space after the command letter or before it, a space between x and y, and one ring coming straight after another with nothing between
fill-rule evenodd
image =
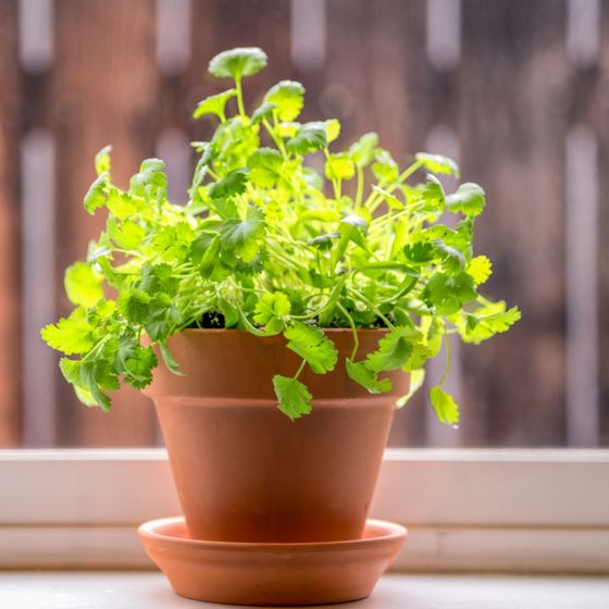
<instances>
[{"instance_id":1,"label":"wide dark brown blurred fence plank right of the plant","mask_svg":"<svg viewBox=\"0 0 609 609\"><path fill-rule=\"evenodd\" d=\"M564 443L564 134L571 91L564 2L463 1L462 173L487 209L485 291L518 303L508 334L463 349L470 445Z\"/></svg>"}]
</instances>

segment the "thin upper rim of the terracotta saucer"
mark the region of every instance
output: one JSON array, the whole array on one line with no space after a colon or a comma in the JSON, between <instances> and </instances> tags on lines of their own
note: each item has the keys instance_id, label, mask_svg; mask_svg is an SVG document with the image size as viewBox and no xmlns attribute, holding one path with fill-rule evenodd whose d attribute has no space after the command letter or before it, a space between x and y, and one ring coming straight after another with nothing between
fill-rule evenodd
<instances>
[{"instance_id":1,"label":"thin upper rim of the terracotta saucer","mask_svg":"<svg viewBox=\"0 0 609 609\"><path fill-rule=\"evenodd\" d=\"M336 549L356 549L362 545L375 546L385 545L391 540L406 537L408 530L401 524L387 520L368 519L365 529L380 530L380 534L371 537L362 537L359 539L345 539L339 542L296 542L296 543L277 543L277 542L214 542L206 539L189 539L186 537L177 537L160 532L166 526L182 524L186 527L184 517L163 518L145 522L138 529L138 534L142 540L152 543L169 543L172 545L186 546L191 549L215 549L227 551L243 550L269 550L269 551L311 551L311 550L336 550Z\"/></svg>"}]
</instances>

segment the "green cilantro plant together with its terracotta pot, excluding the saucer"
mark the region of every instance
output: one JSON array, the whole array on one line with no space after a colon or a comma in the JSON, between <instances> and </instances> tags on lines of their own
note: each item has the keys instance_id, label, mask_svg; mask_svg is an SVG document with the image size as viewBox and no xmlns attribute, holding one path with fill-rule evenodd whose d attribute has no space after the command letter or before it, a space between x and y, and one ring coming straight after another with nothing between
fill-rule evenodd
<instances>
[{"instance_id":1,"label":"green cilantro plant together with its terracotta pot, excluding the saucer","mask_svg":"<svg viewBox=\"0 0 609 609\"><path fill-rule=\"evenodd\" d=\"M233 87L195 111L217 126L192 144L185 206L161 160L123 189L110 147L97 154L84 207L105 229L66 270L75 309L42 338L85 405L109 411L124 383L154 399L192 537L355 539L396 400L449 335L480 343L520 313L478 294L480 186L446 194L435 175L458 177L452 161L401 169L373 133L337 148L337 120L297 122L296 82L246 112L243 78L265 63L256 48L211 60ZM445 377L431 403L456 425Z\"/></svg>"}]
</instances>

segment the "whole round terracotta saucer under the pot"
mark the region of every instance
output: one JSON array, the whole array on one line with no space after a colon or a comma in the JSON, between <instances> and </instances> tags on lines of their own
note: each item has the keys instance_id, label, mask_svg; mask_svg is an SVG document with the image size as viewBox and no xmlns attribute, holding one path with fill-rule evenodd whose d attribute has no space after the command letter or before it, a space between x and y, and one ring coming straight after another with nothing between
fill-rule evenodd
<instances>
[{"instance_id":1,"label":"whole round terracotta saucer under the pot","mask_svg":"<svg viewBox=\"0 0 609 609\"><path fill-rule=\"evenodd\" d=\"M363 537L311 544L190 539L184 518L139 527L148 556L187 598L232 605L324 605L369 596L396 559L406 529L369 520Z\"/></svg>"}]
</instances>

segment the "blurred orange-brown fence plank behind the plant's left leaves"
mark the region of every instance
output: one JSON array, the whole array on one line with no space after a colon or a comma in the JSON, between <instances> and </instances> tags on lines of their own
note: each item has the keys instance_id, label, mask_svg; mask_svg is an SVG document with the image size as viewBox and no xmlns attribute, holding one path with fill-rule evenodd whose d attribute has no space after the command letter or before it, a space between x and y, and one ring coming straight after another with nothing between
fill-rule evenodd
<instances>
[{"instance_id":1,"label":"blurred orange-brown fence plank behind the plant's left leaves","mask_svg":"<svg viewBox=\"0 0 609 609\"><path fill-rule=\"evenodd\" d=\"M94 156L112 144L113 176L128 184L153 154L158 78L154 1L62 0L55 3L52 124L58 159L59 268L83 259L103 223L82 199L95 177ZM61 285L61 276L58 283ZM60 309L65 312L62 299ZM71 446L156 444L151 402L132 389L114 398L109 415L83 408L70 387L58 393L59 442Z\"/></svg>"}]
</instances>

